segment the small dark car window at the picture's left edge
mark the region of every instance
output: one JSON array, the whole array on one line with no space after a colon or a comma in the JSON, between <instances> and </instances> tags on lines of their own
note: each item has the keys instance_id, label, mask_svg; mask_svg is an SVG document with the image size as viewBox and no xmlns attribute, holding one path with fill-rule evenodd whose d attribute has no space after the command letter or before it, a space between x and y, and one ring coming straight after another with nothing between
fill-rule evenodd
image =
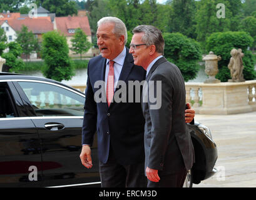
<instances>
[{"instance_id":1,"label":"small dark car window at the picture's left edge","mask_svg":"<svg viewBox=\"0 0 256 200\"><path fill-rule=\"evenodd\" d=\"M9 91L4 84L0 84L0 118L14 118L14 116Z\"/></svg>"}]
</instances>

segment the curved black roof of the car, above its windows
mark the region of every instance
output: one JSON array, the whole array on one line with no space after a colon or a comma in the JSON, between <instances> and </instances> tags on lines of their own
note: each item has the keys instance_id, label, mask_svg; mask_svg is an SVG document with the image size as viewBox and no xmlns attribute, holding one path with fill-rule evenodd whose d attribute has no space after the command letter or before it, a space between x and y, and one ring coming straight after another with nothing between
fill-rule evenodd
<instances>
[{"instance_id":1,"label":"curved black roof of the car, above its windows","mask_svg":"<svg viewBox=\"0 0 256 200\"><path fill-rule=\"evenodd\" d=\"M47 82L50 82L50 83L55 83L55 84L59 84L61 86L65 86L66 88L74 89L74 90L78 91L79 93L82 93L81 91L79 91L76 88L72 88L71 86L60 83L59 81L55 81L53 79L42 78L42 77L38 77L38 76L29 76L29 75L26 75L26 74L0 72L0 80L8 80L8 79L13 79L13 80L15 80L15 79L26 79L26 80L36 80L36 81L47 81ZM82 93L82 94L84 94L84 93Z\"/></svg>"}]
</instances>

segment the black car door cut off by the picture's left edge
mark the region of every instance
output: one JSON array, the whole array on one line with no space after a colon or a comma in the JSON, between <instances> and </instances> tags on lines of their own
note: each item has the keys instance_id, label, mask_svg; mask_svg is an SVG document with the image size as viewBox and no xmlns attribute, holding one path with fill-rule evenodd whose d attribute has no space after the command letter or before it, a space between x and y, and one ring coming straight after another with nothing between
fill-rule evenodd
<instances>
[{"instance_id":1,"label":"black car door cut off by the picture's left edge","mask_svg":"<svg viewBox=\"0 0 256 200\"><path fill-rule=\"evenodd\" d=\"M39 135L11 80L0 80L0 187L41 186Z\"/></svg>"}]
</instances>

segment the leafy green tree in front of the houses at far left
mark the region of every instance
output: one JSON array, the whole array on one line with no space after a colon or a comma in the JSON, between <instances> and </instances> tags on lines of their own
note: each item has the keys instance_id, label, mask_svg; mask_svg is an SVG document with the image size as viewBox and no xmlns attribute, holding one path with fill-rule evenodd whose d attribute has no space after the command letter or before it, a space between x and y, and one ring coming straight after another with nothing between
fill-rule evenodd
<instances>
[{"instance_id":1,"label":"leafy green tree in front of the houses at far left","mask_svg":"<svg viewBox=\"0 0 256 200\"><path fill-rule=\"evenodd\" d=\"M17 31L16 41L21 45L23 53L26 55L26 59L33 52L39 51L38 39L34 36L32 31L28 31L28 27L22 26L21 31Z\"/></svg>"}]
</instances>

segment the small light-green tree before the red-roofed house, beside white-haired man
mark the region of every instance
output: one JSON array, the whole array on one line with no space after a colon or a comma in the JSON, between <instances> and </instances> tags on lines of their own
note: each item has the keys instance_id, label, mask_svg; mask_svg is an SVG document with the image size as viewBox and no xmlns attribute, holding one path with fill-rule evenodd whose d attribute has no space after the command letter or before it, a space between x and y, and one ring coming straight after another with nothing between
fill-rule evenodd
<instances>
[{"instance_id":1,"label":"small light-green tree before the red-roofed house, beside white-haired man","mask_svg":"<svg viewBox=\"0 0 256 200\"><path fill-rule=\"evenodd\" d=\"M72 47L70 49L76 54L80 54L80 59L82 59L82 54L86 53L91 47L91 42L88 41L86 34L80 28L76 29L71 42Z\"/></svg>"}]
</instances>

